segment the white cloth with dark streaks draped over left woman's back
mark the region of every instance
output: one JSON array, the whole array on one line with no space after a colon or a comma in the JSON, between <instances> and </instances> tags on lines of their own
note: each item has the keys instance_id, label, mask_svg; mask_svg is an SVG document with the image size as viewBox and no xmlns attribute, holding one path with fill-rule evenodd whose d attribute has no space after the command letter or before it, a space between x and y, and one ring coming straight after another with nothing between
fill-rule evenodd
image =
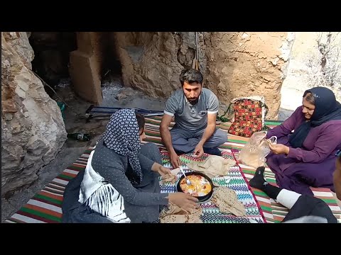
<instances>
[{"instance_id":1,"label":"white cloth with dark streaks draped over left woman's back","mask_svg":"<svg viewBox=\"0 0 341 255\"><path fill-rule=\"evenodd\" d=\"M104 183L104 178L92 168L90 153L83 181L80 185L78 202L86 203L92 210L107 217L112 222L129 223L131 220L124 212L124 199L110 183Z\"/></svg>"}]
</instances>

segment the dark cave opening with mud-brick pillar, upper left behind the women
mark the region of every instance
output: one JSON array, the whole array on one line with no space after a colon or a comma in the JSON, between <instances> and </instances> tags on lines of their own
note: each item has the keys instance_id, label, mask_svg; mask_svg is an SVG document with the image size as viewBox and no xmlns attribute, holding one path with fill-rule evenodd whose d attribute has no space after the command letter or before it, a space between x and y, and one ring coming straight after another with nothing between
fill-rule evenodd
<instances>
[{"instance_id":1,"label":"dark cave opening with mud-brick pillar, upper left behind the women","mask_svg":"<svg viewBox=\"0 0 341 255\"><path fill-rule=\"evenodd\" d=\"M29 42L35 55L32 70L48 84L44 87L51 98L53 90L67 87L101 105L107 91L123 86L114 33L32 32Z\"/></svg>"}]
</instances>

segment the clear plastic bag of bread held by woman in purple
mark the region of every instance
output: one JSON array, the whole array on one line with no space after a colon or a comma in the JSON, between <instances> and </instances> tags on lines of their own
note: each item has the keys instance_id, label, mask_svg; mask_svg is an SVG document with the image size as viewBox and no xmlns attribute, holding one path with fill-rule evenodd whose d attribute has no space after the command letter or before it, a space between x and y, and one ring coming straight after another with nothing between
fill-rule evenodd
<instances>
[{"instance_id":1,"label":"clear plastic bag of bread held by woman in purple","mask_svg":"<svg viewBox=\"0 0 341 255\"><path fill-rule=\"evenodd\" d=\"M249 142L239 153L239 161L247 166L257 168L265 166L266 156L270 153L269 142L277 143L277 137L266 139L266 131L254 132Z\"/></svg>"}]
</instances>

